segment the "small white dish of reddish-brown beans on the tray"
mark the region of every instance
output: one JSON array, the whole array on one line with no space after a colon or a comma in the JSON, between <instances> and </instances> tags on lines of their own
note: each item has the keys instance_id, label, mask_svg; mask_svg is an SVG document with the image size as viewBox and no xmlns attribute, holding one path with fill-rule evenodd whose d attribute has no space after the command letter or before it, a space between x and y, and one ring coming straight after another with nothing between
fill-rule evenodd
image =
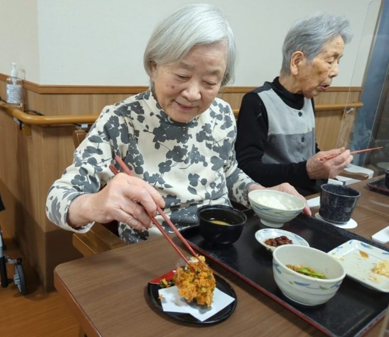
<instances>
[{"instance_id":1,"label":"small white dish of reddish-brown beans on the tray","mask_svg":"<svg viewBox=\"0 0 389 337\"><path fill-rule=\"evenodd\" d=\"M309 247L309 244L301 236L278 228L259 229L255 233L255 238L270 252L282 245L291 244Z\"/></svg>"}]
</instances>

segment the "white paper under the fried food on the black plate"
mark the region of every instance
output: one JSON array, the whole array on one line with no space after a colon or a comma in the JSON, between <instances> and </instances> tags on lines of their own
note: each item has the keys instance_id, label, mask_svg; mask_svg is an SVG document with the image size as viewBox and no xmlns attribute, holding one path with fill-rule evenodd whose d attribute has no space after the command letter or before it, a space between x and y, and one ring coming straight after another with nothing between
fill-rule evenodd
<instances>
[{"instance_id":1,"label":"white paper under the fried food on the black plate","mask_svg":"<svg viewBox=\"0 0 389 337\"><path fill-rule=\"evenodd\" d=\"M198 306L193 303L188 303L183 297L178 295L177 287L169 287L158 290L159 295L162 295L161 303L164 311L183 312L192 315L199 321L203 322L214 316L217 312L224 309L228 304L232 303L235 298L227 295L217 288L214 290L214 300L209 308L206 306Z\"/></svg>"}]
</instances>

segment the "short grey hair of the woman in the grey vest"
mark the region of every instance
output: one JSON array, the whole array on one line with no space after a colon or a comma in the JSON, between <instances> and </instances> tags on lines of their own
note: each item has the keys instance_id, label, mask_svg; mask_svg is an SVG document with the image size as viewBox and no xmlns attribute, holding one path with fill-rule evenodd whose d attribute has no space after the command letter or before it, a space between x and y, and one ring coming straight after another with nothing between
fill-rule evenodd
<instances>
[{"instance_id":1,"label":"short grey hair of the woman in the grey vest","mask_svg":"<svg viewBox=\"0 0 389 337\"><path fill-rule=\"evenodd\" d=\"M311 62L327 41L339 35L345 44L353 36L350 22L343 15L318 13L309 19L298 20L289 30L282 46L281 73L290 74L290 62L295 51L302 51Z\"/></svg>"}]
</instances>

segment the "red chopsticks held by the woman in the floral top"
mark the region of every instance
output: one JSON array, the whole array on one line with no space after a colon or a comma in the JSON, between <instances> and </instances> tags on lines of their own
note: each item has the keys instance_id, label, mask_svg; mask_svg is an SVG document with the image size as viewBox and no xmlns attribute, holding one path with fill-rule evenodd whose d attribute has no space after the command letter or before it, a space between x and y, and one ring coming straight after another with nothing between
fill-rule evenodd
<instances>
[{"instance_id":1,"label":"red chopsticks held by the woman in the floral top","mask_svg":"<svg viewBox=\"0 0 389 337\"><path fill-rule=\"evenodd\" d=\"M122 158L120 158L119 156L116 156L115 157L115 161L116 163L118 163L120 165L120 167L123 169L123 171L125 173L127 173L128 175L132 175L131 173L131 170L128 168L128 166L125 164L125 162L123 162ZM113 174L118 174L119 171L115 168L115 166L113 166L112 164L109 166L109 168L111 169L112 173ZM195 256L199 262L202 263L202 261L199 259L198 255L195 253L195 251L193 251L192 247L190 247L190 245L187 243L187 241L184 239L184 237L181 235L181 233L178 231L177 228L175 228L175 226L173 225L172 221L170 221L169 217L165 214L164 211L162 211L162 209L157 205L157 211L162 215L162 217L165 219L165 221L168 223L168 225L173 229L174 233L178 236L178 238L183 242L183 244L185 245L185 247L189 250L190 253L193 254L193 256ZM168 233L165 232L165 230L163 229L163 227L161 226L161 224L157 221L157 219L154 217L154 216L150 216L150 220L157 226L157 228L161 231L161 233L163 234L163 236L169 241L169 243L173 246L173 248L177 251L177 253L183 258L183 260L185 261L185 263L193 268L191 266L191 264L189 263L189 261L187 260L187 258L185 257L185 255L179 250L179 248L174 244L173 240L171 239L171 237L168 235Z\"/></svg>"}]
</instances>

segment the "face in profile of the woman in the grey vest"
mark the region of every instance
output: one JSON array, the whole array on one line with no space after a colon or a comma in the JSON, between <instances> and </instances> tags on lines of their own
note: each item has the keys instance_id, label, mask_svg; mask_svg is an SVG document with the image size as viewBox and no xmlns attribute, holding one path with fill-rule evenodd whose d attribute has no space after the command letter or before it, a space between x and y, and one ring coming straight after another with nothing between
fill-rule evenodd
<instances>
[{"instance_id":1,"label":"face in profile of the woman in the grey vest","mask_svg":"<svg viewBox=\"0 0 389 337\"><path fill-rule=\"evenodd\" d=\"M301 62L296 65L294 92L302 93L306 98L312 98L327 90L332 79L339 73L339 60L343 56L345 42L341 36L327 41L323 49L312 62L302 56ZM293 62L293 61L292 61ZM293 66L292 66L293 68ZM291 70L293 74L293 70Z\"/></svg>"}]
</instances>

